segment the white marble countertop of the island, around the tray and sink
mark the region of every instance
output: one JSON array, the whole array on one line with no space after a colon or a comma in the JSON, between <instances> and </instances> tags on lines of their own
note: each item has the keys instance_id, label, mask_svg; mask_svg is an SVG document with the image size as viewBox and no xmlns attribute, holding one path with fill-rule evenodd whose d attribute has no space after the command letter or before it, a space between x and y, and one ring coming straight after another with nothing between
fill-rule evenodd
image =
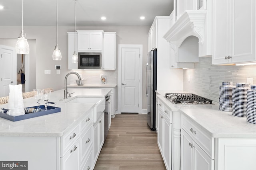
<instances>
[{"instance_id":1,"label":"white marble countertop of the island, around the tray and sink","mask_svg":"<svg viewBox=\"0 0 256 170\"><path fill-rule=\"evenodd\" d=\"M110 93L109 89L70 89L72 98L76 97L104 97ZM72 98L63 99L64 90L54 91L50 102L56 102L61 111L49 115L10 121L0 117L0 136L27 136L27 137L60 137L77 125L83 115L95 106L95 103L66 103ZM7 108L7 104L0 108ZM34 97L24 99L24 107L36 106ZM3 113L0 113L3 114Z\"/></svg>"}]
</instances>

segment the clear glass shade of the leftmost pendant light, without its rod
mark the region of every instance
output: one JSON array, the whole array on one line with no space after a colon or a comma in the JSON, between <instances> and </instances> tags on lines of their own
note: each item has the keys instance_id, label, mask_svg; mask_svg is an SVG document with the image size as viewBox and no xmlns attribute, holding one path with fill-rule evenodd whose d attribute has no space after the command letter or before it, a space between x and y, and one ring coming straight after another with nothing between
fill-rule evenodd
<instances>
[{"instance_id":1,"label":"clear glass shade of the leftmost pendant light, without its rod","mask_svg":"<svg viewBox=\"0 0 256 170\"><path fill-rule=\"evenodd\" d=\"M20 33L20 37L18 37L18 41L16 43L15 49L17 54L28 54L29 53L29 45L26 39L26 34Z\"/></svg>"}]
</instances>

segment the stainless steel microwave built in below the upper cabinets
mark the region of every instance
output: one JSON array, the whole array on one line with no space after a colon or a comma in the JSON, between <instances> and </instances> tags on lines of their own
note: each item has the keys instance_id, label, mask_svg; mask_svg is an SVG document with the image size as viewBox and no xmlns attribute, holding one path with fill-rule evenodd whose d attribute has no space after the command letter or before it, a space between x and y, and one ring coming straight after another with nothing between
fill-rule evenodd
<instances>
[{"instance_id":1,"label":"stainless steel microwave built in below the upper cabinets","mask_svg":"<svg viewBox=\"0 0 256 170\"><path fill-rule=\"evenodd\" d=\"M102 53L78 53L78 69L102 69Z\"/></svg>"}]
</instances>

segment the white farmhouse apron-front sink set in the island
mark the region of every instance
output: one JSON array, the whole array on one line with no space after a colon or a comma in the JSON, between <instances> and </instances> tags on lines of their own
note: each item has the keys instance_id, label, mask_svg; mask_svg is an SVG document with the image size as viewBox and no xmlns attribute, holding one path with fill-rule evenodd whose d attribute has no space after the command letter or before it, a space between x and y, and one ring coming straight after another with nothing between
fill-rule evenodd
<instances>
[{"instance_id":1,"label":"white farmhouse apron-front sink set in the island","mask_svg":"<svg viewBox=\"0 0 256 170\"><path fill-rule=\"evenodd\" d=\"M66 103L95 104L96 109L94 109L94 113L93 113L93 123L96 123L100 115L104 113L104 110L105 110L105 98L75 97L75 98L71 98L71 100L66 101Z\"/></svg>"}]
</instances>

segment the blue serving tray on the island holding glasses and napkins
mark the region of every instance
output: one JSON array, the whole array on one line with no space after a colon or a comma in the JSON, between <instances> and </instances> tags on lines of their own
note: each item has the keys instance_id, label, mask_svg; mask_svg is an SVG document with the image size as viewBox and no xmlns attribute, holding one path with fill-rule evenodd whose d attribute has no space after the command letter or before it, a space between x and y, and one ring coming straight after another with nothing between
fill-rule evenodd
<instances>
[{"instance_id":1,"label":"blue serving tray on the island holding glasses and napkins","mask_svg":"<svg viewBox=\"0 0 256 170\"><path fill-rule=\"evenodd\" d=\"M32 107L37 108L37 106L32 106ZM26 108L31 108L31 107L26 107ZM44 105L40 105L39 108L45 109ZM4 119L8 119L10 121L20 121L20 120L24 120L24 119L30 119L33 117L49 115L49 114L57 113L57 112L60 112L60 107L48 106L47 110L38 111L36 113L26 113L26 114L20 115L20 116L11 116L11 115L6 114L6 111L4 111L4 113L0 112L0 117L2 117Z\"/></svg>"}]
</instances>

